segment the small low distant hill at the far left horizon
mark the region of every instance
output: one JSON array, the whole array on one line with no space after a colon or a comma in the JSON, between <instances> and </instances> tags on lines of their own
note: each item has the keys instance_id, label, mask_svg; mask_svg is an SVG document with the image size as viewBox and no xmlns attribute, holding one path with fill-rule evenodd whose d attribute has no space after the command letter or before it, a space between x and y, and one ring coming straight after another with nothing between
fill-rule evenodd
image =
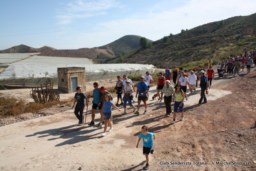
<instances>
[{"instance_id":1,"label":"small low distant hill at the far left horizon","mask_svg":"<svg viewBox=\"0 0 256 171\"><path fill-rule=\"evenodd\" d=\"M19 45L19 46L13 46L12 48L6 49L6 50L0 50L0 54L9 54L9 53L38 53L42 52L44 50L56 50L54 48L51 48L49 46L44 46L42 48L32 48L30 46L26 45Z\"/></svg>"}]
</instances>

